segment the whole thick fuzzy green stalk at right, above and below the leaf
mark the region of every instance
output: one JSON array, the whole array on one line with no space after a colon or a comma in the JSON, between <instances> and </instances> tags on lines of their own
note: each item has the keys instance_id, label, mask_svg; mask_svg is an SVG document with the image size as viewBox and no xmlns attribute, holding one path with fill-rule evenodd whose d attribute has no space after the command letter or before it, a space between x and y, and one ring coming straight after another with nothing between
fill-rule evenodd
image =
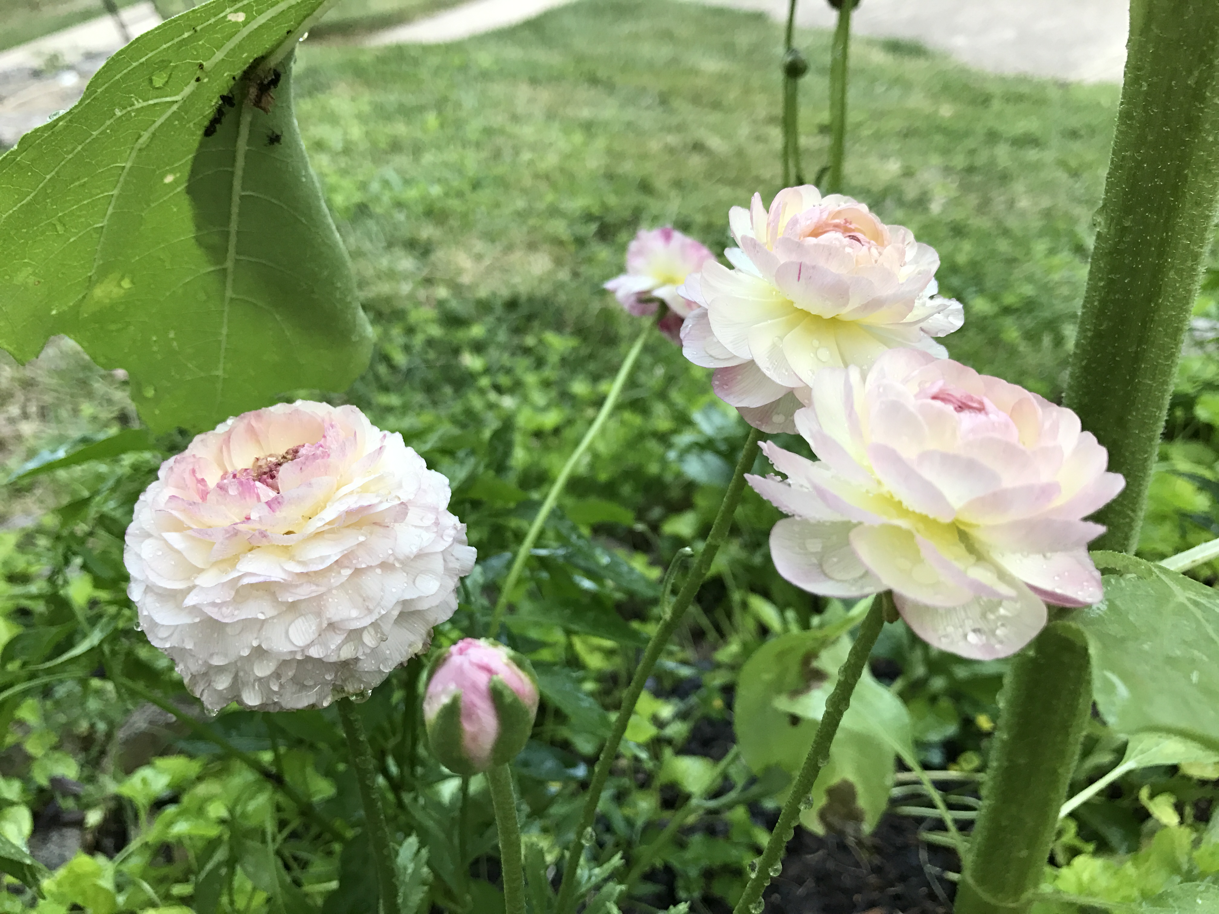
<instances>
[{"instance_id":1,"label":"whole thick fuzzy green stalk at right, above and below the leaf","mask_svg":"<svg viewBox=\"0 0 1219 914\"><path fill-rule=\"evenodd\" d=\"M1123 494L1095 547L1129 552L1219 197L1219 4L1135 0L1125 82L1065 402ZM1023 914L1040 881L1090 701L1086 647L1050 625L1003 685L957 914Z\"/></svg>"}]
</instances>

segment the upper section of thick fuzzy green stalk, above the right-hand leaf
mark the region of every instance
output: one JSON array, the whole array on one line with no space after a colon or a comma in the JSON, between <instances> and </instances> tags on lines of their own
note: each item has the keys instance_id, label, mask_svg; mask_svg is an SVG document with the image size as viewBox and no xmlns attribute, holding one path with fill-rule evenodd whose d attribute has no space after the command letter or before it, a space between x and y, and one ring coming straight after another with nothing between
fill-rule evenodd
<instances>
[{"instance_id":1,"label":"upper section of thick fuzzy green stalk, above the right-hand leaf","mask_svg":"<svg viewBox=\"0 0 1219 914\"><path fill-rule=\"evenodd\" d=\"M1219 4L1156 0L1141 13L1067 388L1126 478L1096 515L1108 531L1093 548L1118 552L1139 537L1219 200Z\"/></svg>"}]
</instances>

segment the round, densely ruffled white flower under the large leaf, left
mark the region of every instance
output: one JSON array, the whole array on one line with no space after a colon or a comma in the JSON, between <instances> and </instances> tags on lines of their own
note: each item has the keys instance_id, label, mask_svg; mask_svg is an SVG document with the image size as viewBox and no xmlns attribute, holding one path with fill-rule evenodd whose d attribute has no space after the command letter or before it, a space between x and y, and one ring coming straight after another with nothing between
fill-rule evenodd
<instances>
[{"instance_id":1,"label":"round, densely ruffled white flower under the large leaf, left","mask_svg":"<svg viewBox=\"0 0 1219 914\"><path fill-rule=\"evenodd\" d=\"M165 462L128 595L208 709L324 707L425 650L474 565L449 480L354 406L245 413Z\"/></svg>"}]
</instances>

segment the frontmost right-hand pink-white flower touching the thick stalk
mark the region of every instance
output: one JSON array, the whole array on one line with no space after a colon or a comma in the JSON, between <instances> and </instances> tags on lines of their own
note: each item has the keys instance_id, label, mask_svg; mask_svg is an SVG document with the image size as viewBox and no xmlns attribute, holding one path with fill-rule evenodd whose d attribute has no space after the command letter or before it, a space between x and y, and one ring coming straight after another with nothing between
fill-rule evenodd
<instances>
[{"instance_id":1,"label":"frontmost right-hand pink-white flower touching the thick stalk","mask_svg":"<svg viewBox=\"0 0 1219 914\"><path fill-rule=\"evenodd\" d=\"M791 514L770 533L779 574L831 597L891 590L907 624L990 659L1026 645L1046 603L1101 600L1085 520L1121 491L1079 417L952 360L891 350L864 375L830 368L796 413L814 463L763 445L747 476Z\"/></svg>"}]
</instances>

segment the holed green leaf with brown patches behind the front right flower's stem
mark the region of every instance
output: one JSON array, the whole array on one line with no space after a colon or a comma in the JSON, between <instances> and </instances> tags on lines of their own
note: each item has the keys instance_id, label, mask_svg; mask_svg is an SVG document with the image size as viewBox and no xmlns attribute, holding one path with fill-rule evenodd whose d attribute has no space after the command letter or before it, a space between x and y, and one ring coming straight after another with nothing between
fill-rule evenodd
<instances>
[{"instance_id":1,"label":"holed green leaf with brown patches behind the front right flower's stem","mask_svg":"<svg viewBox=\"0 0 1219 914\"><path fill-rule=\"evenodd\" d=\"M851 642L795 631L759 647L741 669L733 720L741 756L757 773L795 775L812 746ZM906 706L864 669L801 821L813 831L872 829L889 804L894 757L912 754Z\"/></svg>"}]
</instances>

